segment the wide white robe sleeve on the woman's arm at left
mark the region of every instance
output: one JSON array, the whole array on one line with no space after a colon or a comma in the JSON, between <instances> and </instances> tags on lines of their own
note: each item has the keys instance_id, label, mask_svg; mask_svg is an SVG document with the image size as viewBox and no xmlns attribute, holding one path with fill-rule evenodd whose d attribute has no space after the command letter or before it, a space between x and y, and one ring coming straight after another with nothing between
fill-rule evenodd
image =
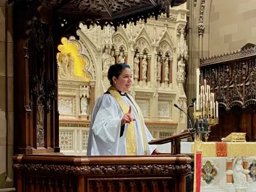
<instances>
[{"instance_id":1,"label":"wide white robe sleeve on the woman's arm at left","mask_svg":"<svg viewBox=\"0 0 256 192\"><path fill-rule=\"evenodd\" d=\"M116 155L120 139L122 110L111 95L102 95L92 113L90 132L99 155Z\"/></svg>"}]
</instances>

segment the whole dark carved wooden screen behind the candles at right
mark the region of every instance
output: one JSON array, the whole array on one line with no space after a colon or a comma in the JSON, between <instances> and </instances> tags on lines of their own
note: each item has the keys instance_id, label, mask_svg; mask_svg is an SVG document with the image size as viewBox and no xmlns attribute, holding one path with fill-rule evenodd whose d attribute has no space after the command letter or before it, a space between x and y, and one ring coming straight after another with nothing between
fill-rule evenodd
<instances>
[{"instance_id":1,"label":"whole dark carved wooden screen behind the candles at right","mask_svg":"<svg viewBox=\"0 0 256 192\"><path fill-rule=\"evenodd\" d=\"M251 46L252 44L250 44ZM256 46L200 60L200 82L207 79L219 102L218 125L209 141L220 141L231 132L246 132L256 140Z\"/></svg>"}]
</instances>

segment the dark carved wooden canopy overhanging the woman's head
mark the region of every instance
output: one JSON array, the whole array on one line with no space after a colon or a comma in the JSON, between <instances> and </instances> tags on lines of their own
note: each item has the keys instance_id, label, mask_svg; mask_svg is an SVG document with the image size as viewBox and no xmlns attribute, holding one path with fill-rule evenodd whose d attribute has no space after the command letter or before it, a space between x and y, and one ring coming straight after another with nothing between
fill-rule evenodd
<instances>
[{"instance_id":1,"label":"dark carved wooden canopy overhanging the woman's head","mask_svg":"<svg viewBox=\"0 0 256 192\"><path fill-rule=\"evenodd\" d=\"M56 15L61 19L60 24L70 26L74 22L77 23L79 20L86 24L88 28L92 24L97 24L103 28L104 26L114 26L117 29L120 24L127 26L131 20L136 22L140 19L145 20L152 17L157 17L161 13L166 13L169 18L170 5L179 6L180 4L186 3L186 0L159 0L159 1L117 1L113 0L111 3L106 1L61 1L61 0L43 0L42 5L49 10L55 10ZM70 18L76 19L68 20ZM101 19L102 18L102 19ZM104 18L104 19L103 19ZM67 21L70 24L67 24Z\"/></svg>"}]
</instances>

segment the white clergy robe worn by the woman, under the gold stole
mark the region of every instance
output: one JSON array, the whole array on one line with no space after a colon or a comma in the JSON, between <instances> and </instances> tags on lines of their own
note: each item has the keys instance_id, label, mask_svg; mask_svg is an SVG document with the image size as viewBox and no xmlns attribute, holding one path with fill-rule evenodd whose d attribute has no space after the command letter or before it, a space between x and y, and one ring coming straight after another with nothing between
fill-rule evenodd
<instances>
[{"instance_id":1,"label":"white clergy robe worn by the woman, under the gold stole","mask_svg":"<svg viewBox=\"0 0 256 192\"><path fill-rule=\"evenodd\" d=\"M137 155L145 155L143 136L141 132L140 119L136 108L132 104L135 100L129 95L122 95L128 106L132 106L131 115L136 120L134 128L136 134ZM126 111L125 113L128 113ZM122 108L111 94L104 94L96 100L92 113L92 122L88 138L87 156L124 156L127 155L126 132L127 124L124 125L124 132L121 131L121 120L124 116ZM143 115L141 114L142 118ZM145 142L147 154L150 155L156 149L156 145L148 145L148 141L153 140L143 119L143 130L145 132Z\"/></svg>"}]
</instances>

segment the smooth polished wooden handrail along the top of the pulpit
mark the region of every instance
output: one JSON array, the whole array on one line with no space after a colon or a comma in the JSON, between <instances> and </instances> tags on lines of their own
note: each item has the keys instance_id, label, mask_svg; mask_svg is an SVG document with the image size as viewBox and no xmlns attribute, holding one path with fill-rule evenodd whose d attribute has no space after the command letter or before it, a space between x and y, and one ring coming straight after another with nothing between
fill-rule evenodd
<instances>
[{"instance_id":1,"label":"smooth polished wooden handrail along the top of the pulpit","mask_svg":"<svg viewBox=\"0 0 256 192\"><path fill-rule=\"evenodd\" d=\"M118 161L116 161L118 159ZM188 156L63 156L54 154L33 154L19 155L13 157L13 163L33 163L33 164L70 164L70 165L90 165L90 164L189 164L191 158Z\"/></svg>"}]
</instances>

